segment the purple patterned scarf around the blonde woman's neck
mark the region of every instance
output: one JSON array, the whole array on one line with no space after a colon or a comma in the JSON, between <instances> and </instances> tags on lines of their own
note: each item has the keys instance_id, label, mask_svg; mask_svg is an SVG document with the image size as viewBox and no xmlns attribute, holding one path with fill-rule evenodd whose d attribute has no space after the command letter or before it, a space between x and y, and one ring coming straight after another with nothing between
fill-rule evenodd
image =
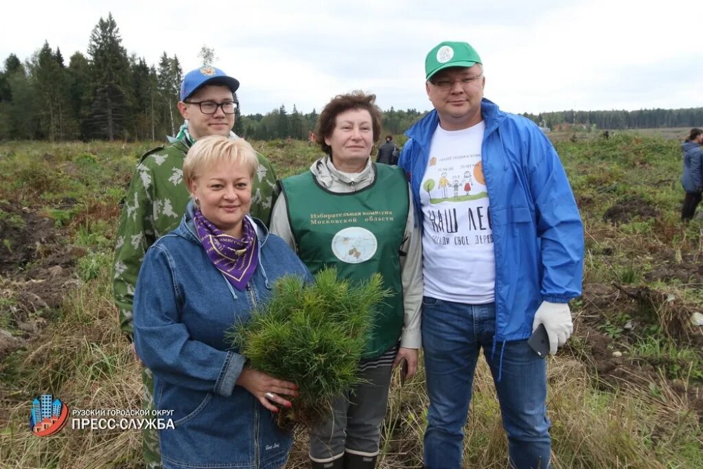
<instances>
[{"instance_id":1,"label":"purple patterned scarf around the blonde woman's neck","mask_svg":"<svg viewBox=\"0 0 703 469\"><path fill-rule=\"evenodd\" d=\"M202 215L200 209L195 210L193 221L200 243L212 264L234 288L244 290L259 263L257 231L254 226L246 217L242 219L243 237L238 239L217 229Z\"/></svg>"}]
</instances>

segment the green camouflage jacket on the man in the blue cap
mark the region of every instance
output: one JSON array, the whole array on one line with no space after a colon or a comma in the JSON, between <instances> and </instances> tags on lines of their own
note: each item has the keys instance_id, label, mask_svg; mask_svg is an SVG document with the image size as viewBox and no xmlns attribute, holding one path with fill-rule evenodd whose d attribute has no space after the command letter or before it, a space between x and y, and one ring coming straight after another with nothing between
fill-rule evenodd
<instances>
[{"instance_id":1,"label":"green camouflage jacket on the man in the blue cap","mask_svg":"<svg viewBox=\"0 0 703 469\"><path fill-rule=\"evenodd\" d=\"M112 292L120 328L130 337L136 276L146 250L179 226L190 200L183 183L183 159L187 152L186 141L175 141L145 153L124 198L112 267ZM276 174L269 160L259 153L257 156L259 169L252 184L250 213L269 226L271 207L278 196Z\"/></svg>"}]
</instances>

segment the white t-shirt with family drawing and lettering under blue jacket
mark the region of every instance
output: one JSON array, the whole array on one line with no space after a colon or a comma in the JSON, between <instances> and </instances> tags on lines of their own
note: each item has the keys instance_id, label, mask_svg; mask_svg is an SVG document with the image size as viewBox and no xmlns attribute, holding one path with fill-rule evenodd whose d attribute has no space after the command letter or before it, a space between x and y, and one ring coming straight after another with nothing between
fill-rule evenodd
<instances>
[{"instance_id":1,"label":"white t-shirt with family drawing and lettering under blue jacket","mask_svg":"<svg viewBox=\"0 0 703 469\"><path fill-rule=\"evenodd\" d=\"M430 144L423 207L425 295L466 304L495 299L496 266L488 192L481 165L484 121L446 131Z\"/></svg>"}]
</instances>

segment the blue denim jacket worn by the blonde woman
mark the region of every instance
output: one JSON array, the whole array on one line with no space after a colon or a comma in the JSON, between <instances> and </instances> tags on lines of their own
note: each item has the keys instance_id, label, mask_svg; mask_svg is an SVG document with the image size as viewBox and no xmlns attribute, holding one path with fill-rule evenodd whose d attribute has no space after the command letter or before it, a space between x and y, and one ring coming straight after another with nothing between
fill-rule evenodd
<instances>
[{"instance_id":1,"label":"blue denim jacket worn by the blonde woman","mask_svg":"<svg viewBox=\"0 0 703 469\"><path fill-rule=\"evenodd\" d=\"M307 268L259 220L259 265L245 291L212 265L193 225L193 203L180 226L149 248L134 295L134 341L154 373L156 408L174 428L160 430L165 468L279 468L291 435L245 388L236 386L245 356L224 338L266 302L276 278ZM171 413L172 412L172 413Z\"/></svg>"}]
</instances>

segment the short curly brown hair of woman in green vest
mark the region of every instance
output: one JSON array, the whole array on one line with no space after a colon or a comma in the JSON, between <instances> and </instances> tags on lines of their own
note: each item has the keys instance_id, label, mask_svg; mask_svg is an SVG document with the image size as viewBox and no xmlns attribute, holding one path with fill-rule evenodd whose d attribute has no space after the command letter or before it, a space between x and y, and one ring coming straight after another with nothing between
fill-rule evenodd
<instances>
[{"instance_id":1,"label":"short curly brown hair of woman in green vest","mask_svg":"<svg viewBox=\"0 0 703 469\"><path fill-rule=\"evenodd\" d=\"M375 94L365 94L356 90L348 94L338 94L325 105L317 120L315 139L319 143L323 152L332 156L332 147L325 143L325 139L332 136L337 125L337 116L352 109L368 110L371 115L371 128L373 129L373 142L378 142L381 134L381 110L374 104Z\"/></svg>"}]
</instances>

